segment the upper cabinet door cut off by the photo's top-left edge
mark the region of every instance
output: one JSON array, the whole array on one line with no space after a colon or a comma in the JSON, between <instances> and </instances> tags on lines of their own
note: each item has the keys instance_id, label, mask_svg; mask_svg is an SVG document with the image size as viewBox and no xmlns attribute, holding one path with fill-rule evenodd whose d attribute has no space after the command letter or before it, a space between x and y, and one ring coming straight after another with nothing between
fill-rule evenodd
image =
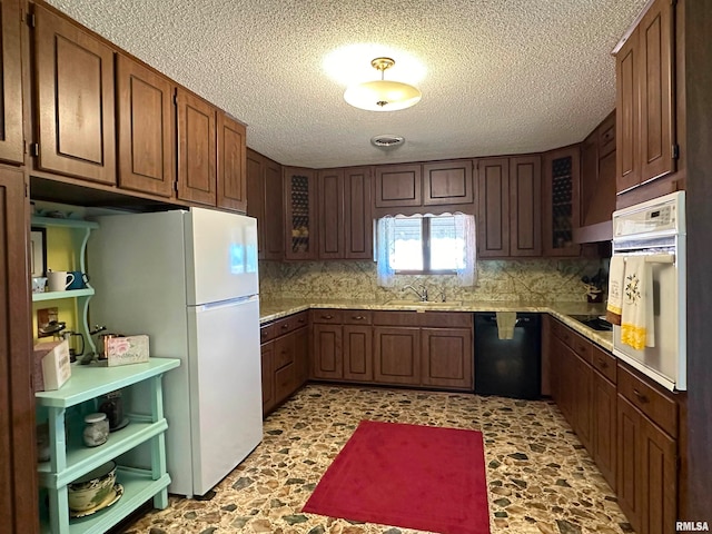
<instances>
[{"instance_id":1,"label":"upper cabinet door cut off by the photo's top-left edge","mask_svg":"<svg viewBox=\"0 0 712 534\"><path fill-rule=\"evenodd\" d=\"M0 159L22 164L22 71L20 50L20 2L0 2Z\"/></svg>"}]
</instances>

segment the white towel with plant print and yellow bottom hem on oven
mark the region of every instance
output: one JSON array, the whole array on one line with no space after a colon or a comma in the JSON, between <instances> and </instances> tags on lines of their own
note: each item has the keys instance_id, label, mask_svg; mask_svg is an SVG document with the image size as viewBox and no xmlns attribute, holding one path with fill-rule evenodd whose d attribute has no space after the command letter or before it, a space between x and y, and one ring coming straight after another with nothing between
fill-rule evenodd
<instances>
[{"instance_id":1,"label":"white towel with plant print and yellow bottom hem on oven","mask_svg":"<svg viewBox=\"0 0 712 534\"><path fill-rule=\"evenodd\" d=\"M655 346L653 277L644 256L625 258L621 342L635 350Z\"/></svg>"}]
</instances>

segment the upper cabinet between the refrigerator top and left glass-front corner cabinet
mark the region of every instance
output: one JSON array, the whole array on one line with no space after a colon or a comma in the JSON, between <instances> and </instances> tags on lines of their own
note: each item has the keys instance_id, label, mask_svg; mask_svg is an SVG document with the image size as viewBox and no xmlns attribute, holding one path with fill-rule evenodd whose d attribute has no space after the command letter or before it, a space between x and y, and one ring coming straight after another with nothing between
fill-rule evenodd
<instances>
[{"instance_id":1,"label":"upper cabinet between the refrigerator top and left glass-front corner cabinet","mask_svg":"<svg viewBox=\"0 0 712 534\"><path fill-rule=\"evenodd\" d=\"M281 166L249 148L246 159L247 215L257 219L259 259L280 260L285 255Z\"/></svg>"}]
</instances>

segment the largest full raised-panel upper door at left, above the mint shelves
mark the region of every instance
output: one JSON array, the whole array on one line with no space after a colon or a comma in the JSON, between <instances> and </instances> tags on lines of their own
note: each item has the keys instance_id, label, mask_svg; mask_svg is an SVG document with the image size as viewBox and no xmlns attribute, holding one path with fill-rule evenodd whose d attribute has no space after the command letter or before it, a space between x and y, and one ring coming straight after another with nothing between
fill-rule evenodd
<instances>
[{"instance_id":1,"label":"largest full raised-panel upper door at left, above the mint shelves","mask_svg":"<svg viewBox=\"0 0 712 534\"><path fill-rule=\"evenodd\" d=\"M34 4L37 167L116 184L113 50Z\"/></svg>"}]
</instances>

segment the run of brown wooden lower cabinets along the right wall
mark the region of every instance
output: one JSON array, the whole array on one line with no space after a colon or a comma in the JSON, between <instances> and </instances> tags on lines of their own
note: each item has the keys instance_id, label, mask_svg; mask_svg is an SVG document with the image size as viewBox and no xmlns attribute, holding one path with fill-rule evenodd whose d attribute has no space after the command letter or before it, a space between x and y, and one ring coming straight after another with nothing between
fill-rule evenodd
<instances>
[{"instance_id":1,"label":"run of brown wooden lower cabinets along the right wall","mask_svg":"<svg viewBox=\"0 0 712 534\"><path fill-rule=\"evenodd\" d=\"M551 325L554 400L616 492L633 530L673 532L680 402L565 325Z\"/></svg>"}]
</instances>

